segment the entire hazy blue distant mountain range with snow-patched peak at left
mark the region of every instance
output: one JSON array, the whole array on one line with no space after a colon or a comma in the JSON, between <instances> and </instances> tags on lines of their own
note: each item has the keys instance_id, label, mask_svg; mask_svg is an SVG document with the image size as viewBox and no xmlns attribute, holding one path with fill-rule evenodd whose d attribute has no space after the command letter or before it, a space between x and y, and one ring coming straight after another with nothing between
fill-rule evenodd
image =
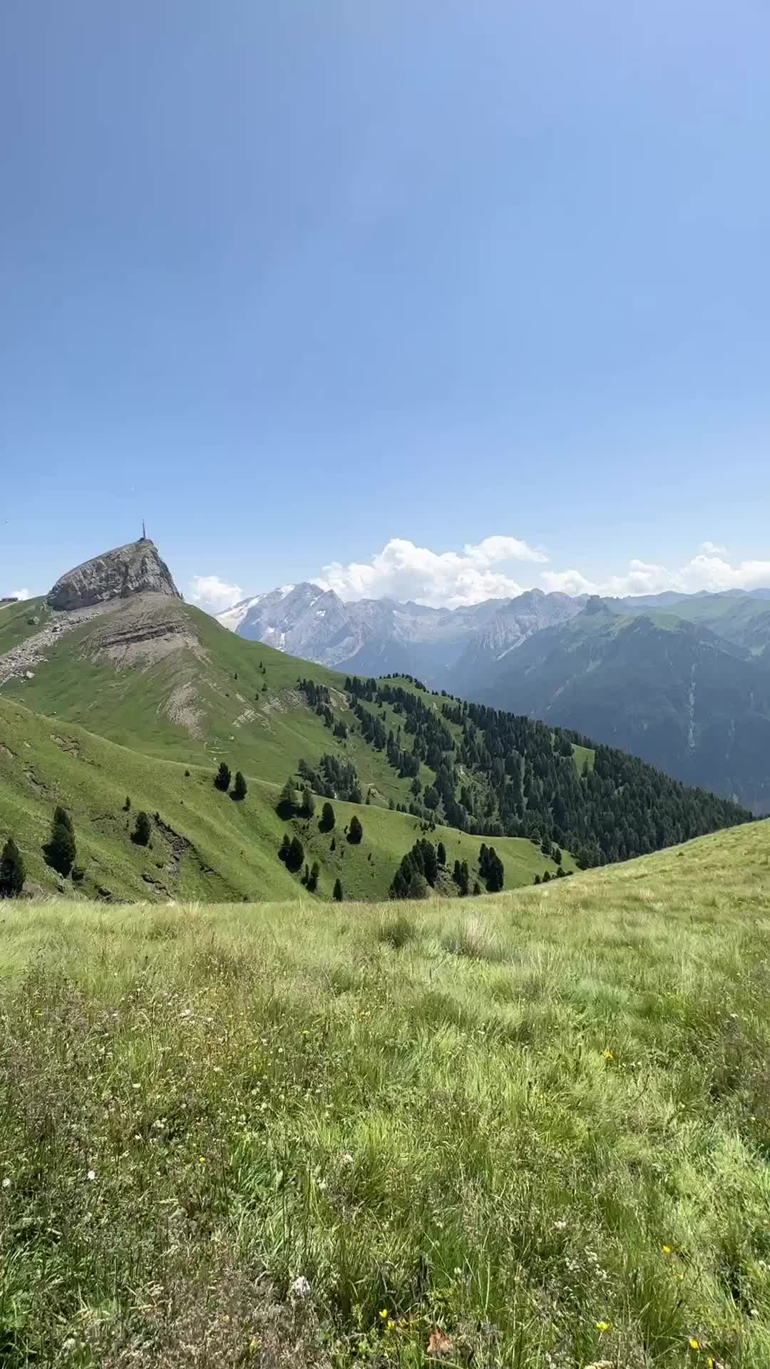
<instances>
[{"instance_id":1,"label":"entire hazy blue distant mountain range with snow-patched peak at left","mask_svg":"<svg viewBox=\"0 0 770 1369\"><path fill-rule=\"evenodd\" d=\"M770 810L770 589L571 598L527 590L471 608L345 604L301 583L219 615L240 637L356 675L588 732Z\"/></svg>"}]
</instances>

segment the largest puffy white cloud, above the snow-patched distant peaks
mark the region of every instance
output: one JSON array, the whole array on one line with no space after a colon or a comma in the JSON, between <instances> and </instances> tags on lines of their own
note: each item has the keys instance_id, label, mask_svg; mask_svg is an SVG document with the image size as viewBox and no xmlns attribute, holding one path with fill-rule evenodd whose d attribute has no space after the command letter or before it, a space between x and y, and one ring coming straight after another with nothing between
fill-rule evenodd
<instances>
[{"instance_id":1,"label":"largest puffy white cloud, above the snow-patched distant peaks","mask_svg":"<svg viewBox=\"0 0 770 1369\"><path fill-rule=\"evenodd\" d=\"M332 561L323 567L323 587L343 600L414 600L433 608L460 608L486 598L507 598L522 586L493 567L510 561L547 561L544 552L515 537L485 537L462 552L430 552L393 537L371 561Z\"/></svg>"}]
</instances>

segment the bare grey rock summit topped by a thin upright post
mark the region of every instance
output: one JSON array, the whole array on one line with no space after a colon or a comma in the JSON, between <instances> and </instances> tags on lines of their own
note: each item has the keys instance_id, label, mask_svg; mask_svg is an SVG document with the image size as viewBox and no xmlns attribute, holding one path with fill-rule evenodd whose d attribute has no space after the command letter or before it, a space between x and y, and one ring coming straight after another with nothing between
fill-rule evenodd
<instances>
[{"instance_id":1,"label":"bare grey rock summit topped by a thin upright post","mask_svg":"<svg viewBox=\"0 0 770 1369\"><path fill-rule=\"evenodd\" d=\"M62 575L48 594L51 608L74 609L129 598L132 594L171 594L181 598L155 542L140 538L95 556Z\"/></svg>"}]
</instances>

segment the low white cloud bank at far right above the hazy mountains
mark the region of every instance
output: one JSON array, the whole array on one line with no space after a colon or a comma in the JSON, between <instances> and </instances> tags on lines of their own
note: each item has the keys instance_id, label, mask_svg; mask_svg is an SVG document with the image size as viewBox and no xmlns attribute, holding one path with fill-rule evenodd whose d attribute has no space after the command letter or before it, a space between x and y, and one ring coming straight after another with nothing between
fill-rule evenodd
<instances>
[{"instance_id":1,"label":"low white cloud bank at far right above the hazy mountains","mask_svg":"<svg viewBox=\"0 0 770 1369\"><path fill-rule=\"evenodd\" d=\"M704 542L703 546L712 546ZM755 590L770 585L770 561L740 561L732 565L721 556L703 550L684 565L669 568L648 561L629 561L625 575L610 575L604 580L589 580L581 571L545 571L541 575L548 590L564 594L660 594L677 590L695 594L697 590Z\"/></svg>"}]
</instances>

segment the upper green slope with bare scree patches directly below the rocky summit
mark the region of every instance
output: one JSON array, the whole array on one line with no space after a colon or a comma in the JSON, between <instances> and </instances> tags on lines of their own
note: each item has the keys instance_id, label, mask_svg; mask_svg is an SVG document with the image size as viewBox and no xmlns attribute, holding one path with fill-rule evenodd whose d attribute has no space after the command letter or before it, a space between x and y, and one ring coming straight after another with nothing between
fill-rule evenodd
<instances>
[{"instance_id":1,"label":"upper green slope with bare scree patches directly below the rocky summit","mask_svg":"<svg viewBox=\"0 0 770 1369\"><path fill-rule=\"evenodd\" d=\"M38 606L33 601L14 615L8 639L0 635L0 653L37 631L26 620ZM166 654L149 635L158 626L166 630ZM145 635L126 650L122 639L132 634ZM275 784L300 760L315 763L338 752L356 767L363 793L373 790L374 802L408 804L408 782L358 730L337 745L297 693L300 676L330 689L336 711L349 715L344 675L247 642L195 605L153 596L151 602L118 602L111 613L62 634L34 679L12 679L3 694L147 756L204 765L226 760Z\"/></svg>"}]
</instances>

